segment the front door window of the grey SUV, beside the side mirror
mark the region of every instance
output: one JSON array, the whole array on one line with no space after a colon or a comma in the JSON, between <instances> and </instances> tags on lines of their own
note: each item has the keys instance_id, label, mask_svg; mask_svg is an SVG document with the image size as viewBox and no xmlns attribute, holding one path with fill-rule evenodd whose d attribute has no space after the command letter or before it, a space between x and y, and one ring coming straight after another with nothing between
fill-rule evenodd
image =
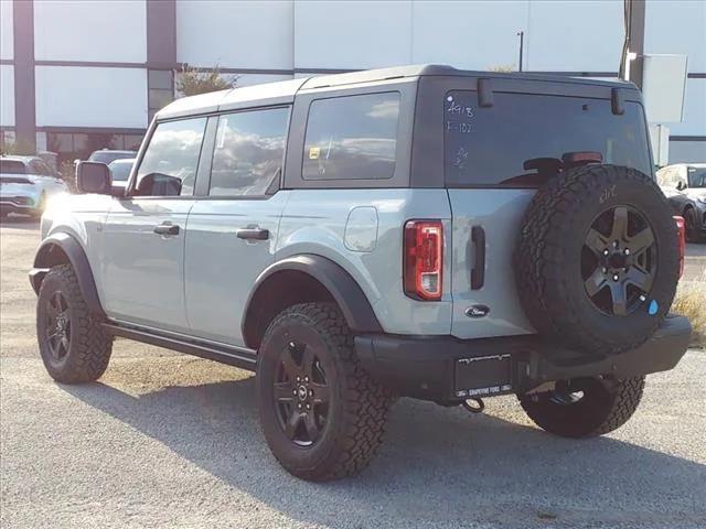
<instances>
[{"instance_id":1,"label":"front door window of the grey SUV, beside the side mirror","mask_svg":"<svg viewBox=\"0 0 706 529\"><path fill-rule=\"evenodd\" d=\"M193 195L206 118L158 123L137 172L139 196Z\"/></svg>"}]
</instances>

